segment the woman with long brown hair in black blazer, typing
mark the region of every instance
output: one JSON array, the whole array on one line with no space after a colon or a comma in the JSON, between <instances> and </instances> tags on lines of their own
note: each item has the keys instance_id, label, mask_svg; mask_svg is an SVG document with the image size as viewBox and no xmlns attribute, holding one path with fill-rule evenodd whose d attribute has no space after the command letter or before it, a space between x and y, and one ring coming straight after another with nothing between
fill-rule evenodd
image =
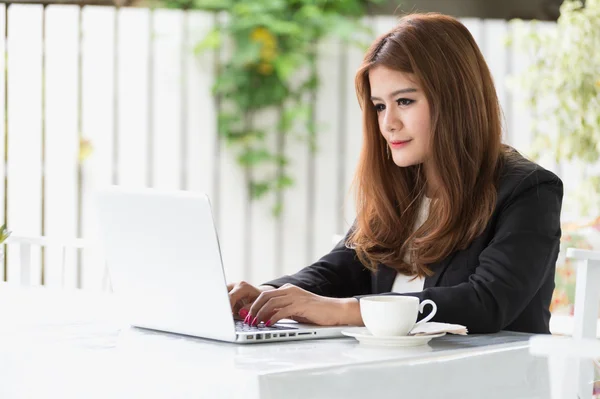
<instances>
[{"instance_id":1,"label":"woman with long brown hair in black blazer, typing","mask_svg":"<svg viewBox=\"0 0 600 399\"><path fill-rule=\"evenodd\" d=\"M230 284L233 311L253 325L362 325L361 296L410 295L471 333L548 333L562 182L501 144L494 83L469 31L440 14L404 17L368 50L356 92L353 227L294 275Z\"/></svg>"}]
</instances>

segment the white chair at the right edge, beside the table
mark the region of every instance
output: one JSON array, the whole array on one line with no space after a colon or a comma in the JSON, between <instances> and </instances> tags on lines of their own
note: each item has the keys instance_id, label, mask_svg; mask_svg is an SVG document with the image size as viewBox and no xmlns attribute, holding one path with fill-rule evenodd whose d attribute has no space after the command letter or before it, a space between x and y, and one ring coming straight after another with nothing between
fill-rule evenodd
<instances>
[{"instance_id":1,"label":"white chair at the right edge, beside the table","mask_svg":"<svg viewBox=\"0 0 600 399\"><path fill-rule=\"evenodd\" d=\"M548 357L552 399L591 399L594 363L600 359L596 339L600 303L600 251L569 248L576 260L574 326L572 337L536 336L530 353Z\"/></svg>"}]
</instances>

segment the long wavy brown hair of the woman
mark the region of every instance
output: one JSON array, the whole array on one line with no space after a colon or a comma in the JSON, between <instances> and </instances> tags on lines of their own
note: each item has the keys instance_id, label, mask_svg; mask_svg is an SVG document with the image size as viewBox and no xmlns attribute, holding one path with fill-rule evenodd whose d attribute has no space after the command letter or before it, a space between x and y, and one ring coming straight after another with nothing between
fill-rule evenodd
<instances>
[{"instance_id":1,"label":"long wavy brown hair of the woman","mask_svg":"<svg viewBox=\"0 0 600 399\"><path fill-rule=\"evenodd\" d=\"M414 74L431 113L431 165L442 187L429 217L413 232L426 179L421 165L398 167L386 155L371 103L369 69ZM371 270L382 263L404 274L466 248L487 225L503 161L501 111L486 62L468 29L436 13L403 17L367 51L356 74L363 145L354 185L357 220L348 244Z\"/></svg>"}]
</instances>

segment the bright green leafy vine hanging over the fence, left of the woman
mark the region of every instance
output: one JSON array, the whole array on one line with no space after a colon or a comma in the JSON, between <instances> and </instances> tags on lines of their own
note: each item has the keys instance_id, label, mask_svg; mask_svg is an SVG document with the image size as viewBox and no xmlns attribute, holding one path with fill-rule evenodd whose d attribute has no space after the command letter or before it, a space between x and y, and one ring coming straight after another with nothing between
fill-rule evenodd
<instances>
[{"instance_id":1,"label":"bright green leafy vine hanging over the fence, left of the woman","mask_svg":"<svg viewBox=\"0 0 600 399\"><path fill-rule=\"evenodd\" d=\"M224 48L227 54L213 88L221 103L219 134L249 176L251 198L293 185L288 160L277 153L278 135L315 149L312 104L316 92L317 44L328 36L365 46L372 38L360 22L368 3L381 0L167 0L167 6L225 11L226 18L195 47L197 54ZM276 122L265 122L265 114ZM273 119L273 118L268 118ZM293 145L286 140L286 145ZM260 172L262 179L254 177ZM281 195L274 213L281 212Z\"/></svg>"}]
</instances>

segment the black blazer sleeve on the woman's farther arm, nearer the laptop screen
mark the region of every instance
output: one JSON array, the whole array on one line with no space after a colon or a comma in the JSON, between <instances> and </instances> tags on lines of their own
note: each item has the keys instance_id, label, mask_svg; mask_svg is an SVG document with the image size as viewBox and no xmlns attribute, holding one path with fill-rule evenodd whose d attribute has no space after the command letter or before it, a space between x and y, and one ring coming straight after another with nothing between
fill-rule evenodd
<instances>
[{"instance_id":1,"label":"black blazer sleeve on the woman's farther arm, nearer the laptop screen","mask_svg":"<svg viewBox=\"0 0 600 399\"><path fill-rule=\"evenodd\" d=\"M350 231L327 255L291 276L264 283L281 287L289 283L318 295L347 298L371 292L371 272L345 243Z\"/></svg>"}]
</instances>

